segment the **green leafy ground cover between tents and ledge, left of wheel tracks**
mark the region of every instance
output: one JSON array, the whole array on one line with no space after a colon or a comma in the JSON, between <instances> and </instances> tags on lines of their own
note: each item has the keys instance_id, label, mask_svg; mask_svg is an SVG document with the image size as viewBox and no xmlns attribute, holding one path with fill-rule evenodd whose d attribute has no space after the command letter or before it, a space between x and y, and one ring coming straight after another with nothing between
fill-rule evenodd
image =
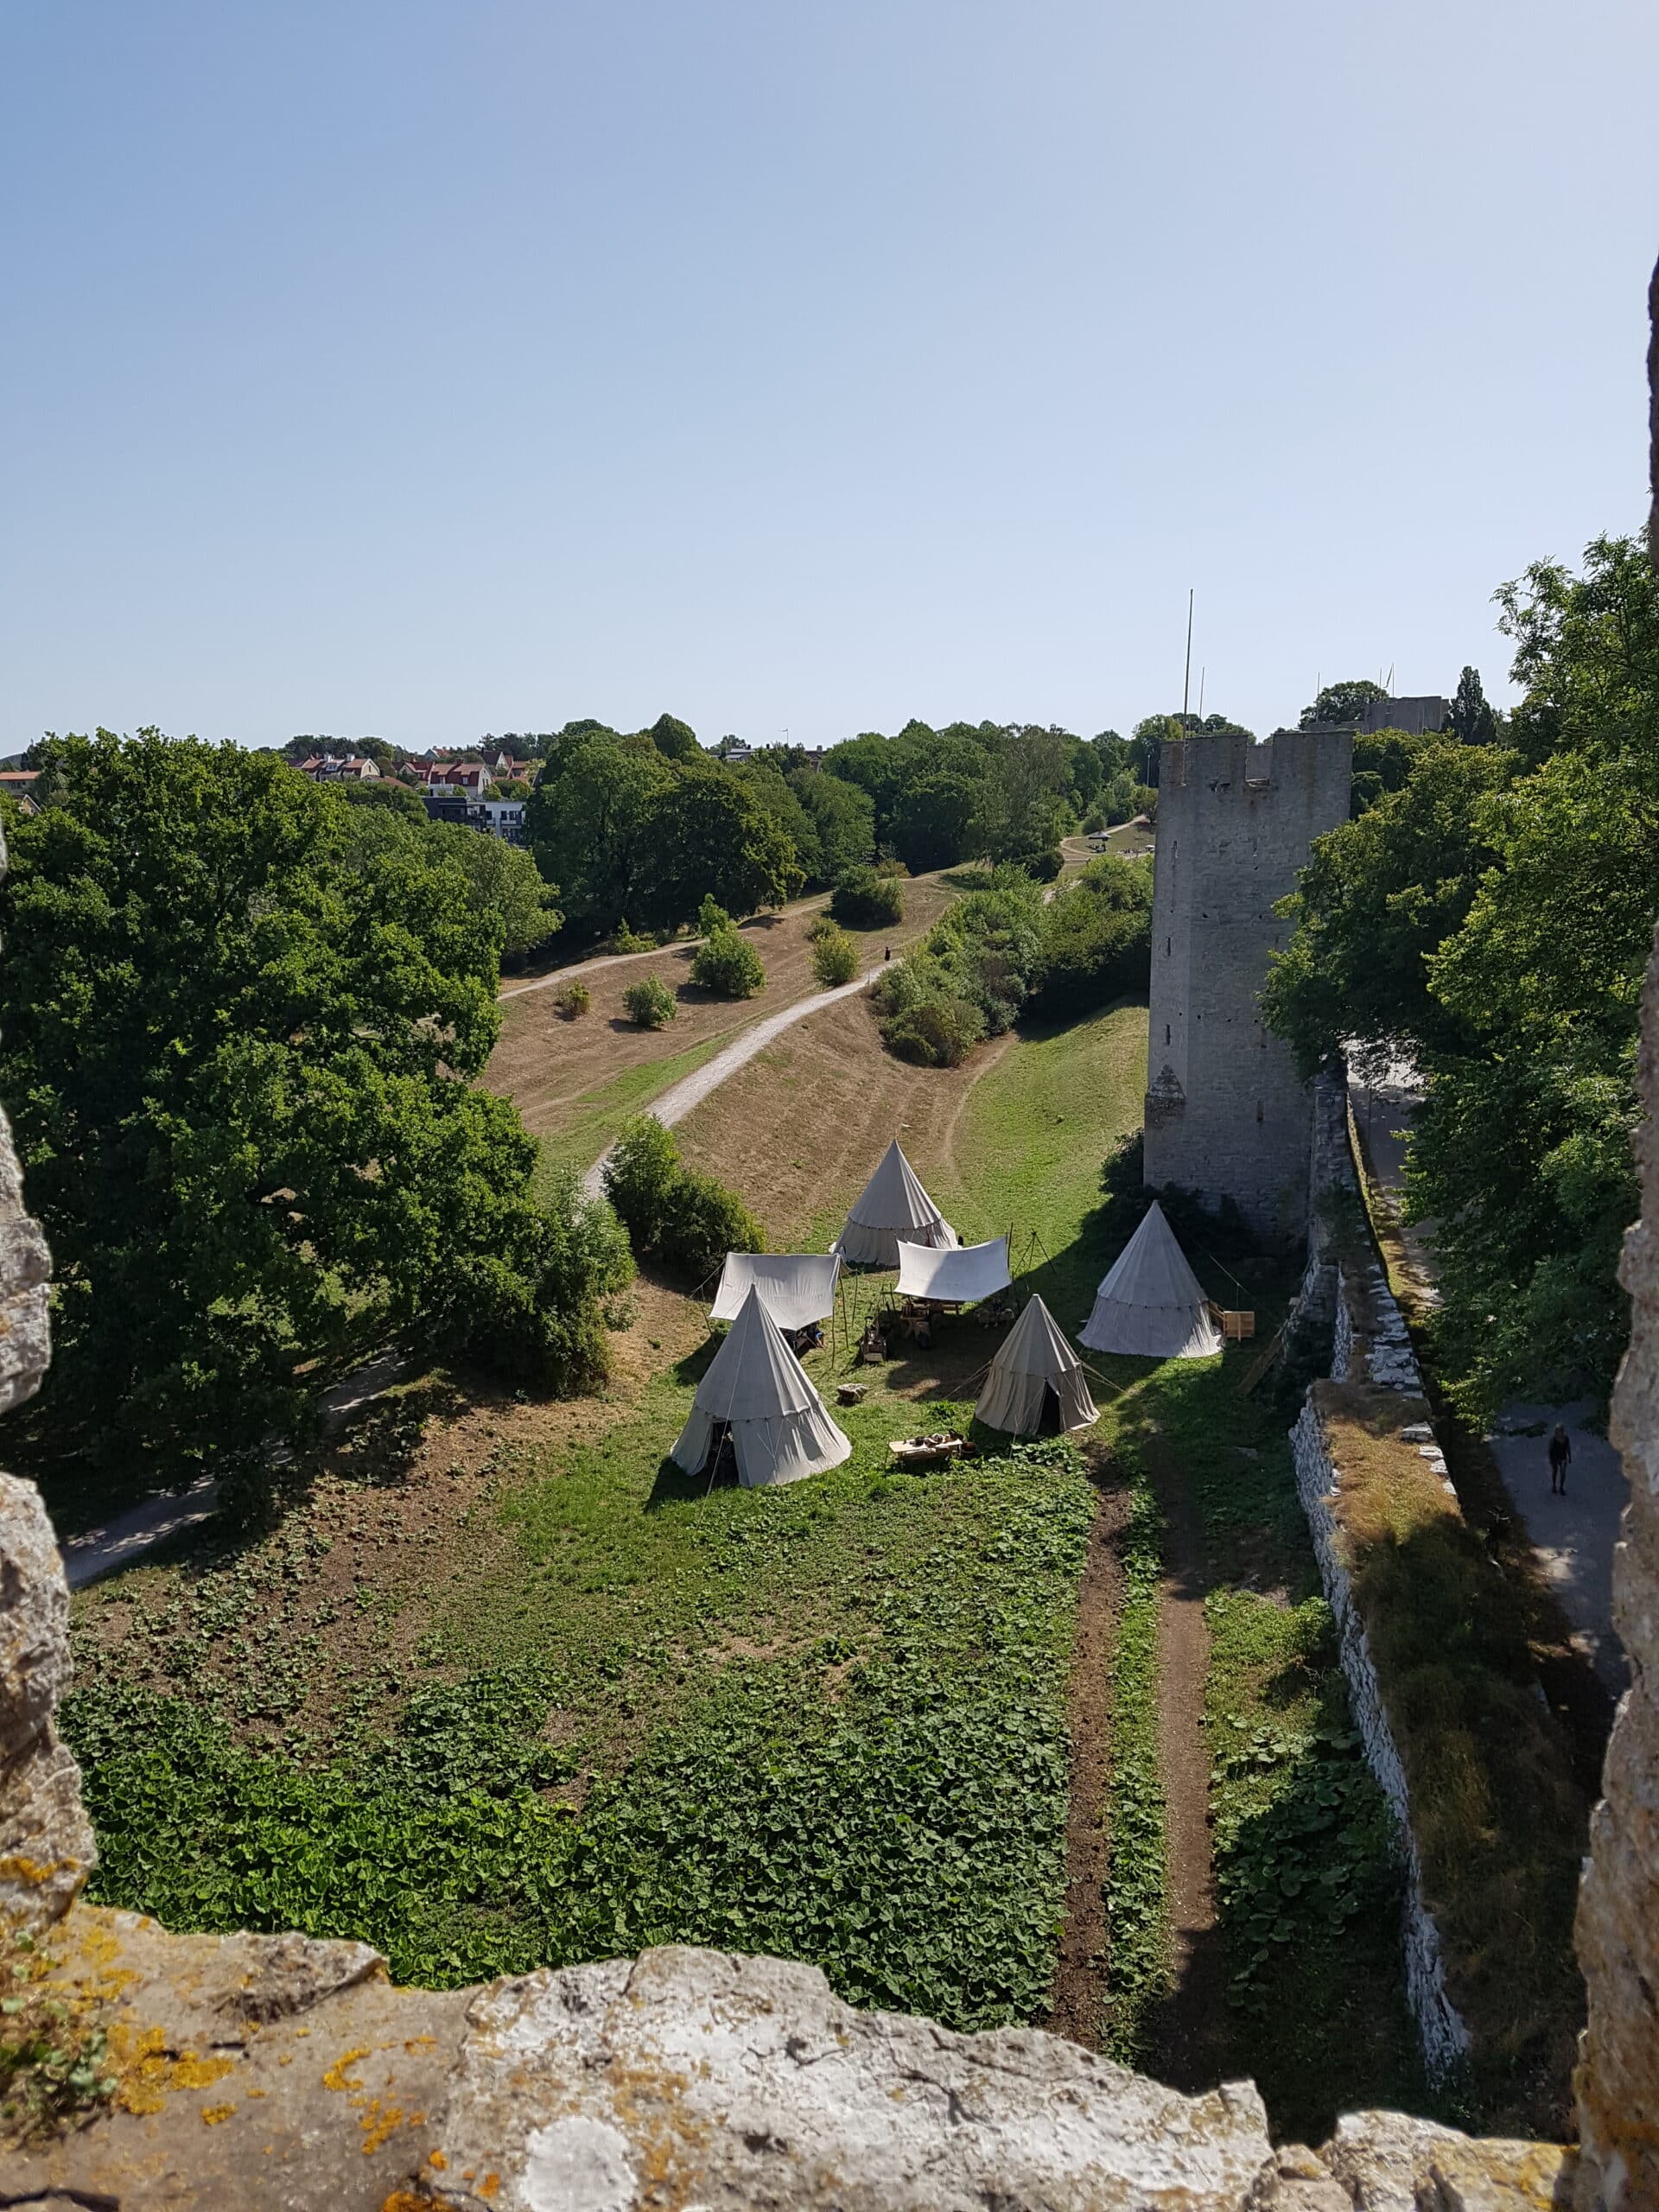
<instances>
[{"instance_id":1,"label":"green leafy ground cover between tents and ledge, left of wheel tracks","mask_svg":"<svg viewBox=\"0 0 1659 2212\"><path fill-rule=\"evenodd\" d=\"M860 1427L812 1489L666 1482L622 1542L584 1528L604 1455L557 1504L526 1486L557 1650L482 1621L467 1677L385 1734L343 1717L319 1761L241 1741L210 1692L230 1608L173 1648L195 1694L77 1692L97 1896L356 1936L431 1984L681 1940L812 1958L847 1997L958 2026L1031 2017L1093 1493L1064 1444L872 1480L885 1425ZM478 1668L480 1644L520 1650Z\"/></svg>"}]
</instances>

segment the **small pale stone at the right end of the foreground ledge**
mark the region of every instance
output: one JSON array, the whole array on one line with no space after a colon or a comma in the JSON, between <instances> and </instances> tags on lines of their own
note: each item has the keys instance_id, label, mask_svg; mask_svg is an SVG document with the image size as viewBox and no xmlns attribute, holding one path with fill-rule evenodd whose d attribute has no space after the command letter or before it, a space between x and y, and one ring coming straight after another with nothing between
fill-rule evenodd
<instances>
[{"instance_id":1,"label":"small pale stone at the right end of the foreground ledge","mask_svg":"<svg viewBox=\"0 0 1659 2212\"><path fill-rule=\"evenodd\" d=\"M1559 2212L1575 2152L1475 2139L1405 2112L1349 2112L1321 2152L1358 2212Z\"/></svg>"}]
</instances>

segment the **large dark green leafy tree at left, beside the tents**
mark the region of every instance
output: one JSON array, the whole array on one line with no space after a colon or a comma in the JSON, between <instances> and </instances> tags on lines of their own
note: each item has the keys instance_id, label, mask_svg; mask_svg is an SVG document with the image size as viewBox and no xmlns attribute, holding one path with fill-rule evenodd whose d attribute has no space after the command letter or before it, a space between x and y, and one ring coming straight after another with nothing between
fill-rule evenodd
<instances>
[{"instance_id":1,"label":"large dark green leafy tree at left, beside the tents","mask_svg":"<svg viewBox=\"0 0 1659 2212\"><path fill-rule=\"evenodd\" d=\"M53 741L11 832L0 1095L55 1256L46 1422L257 1460L387 1334L577 1387L615 1223L476 1086L502 925L436 841L232 745Z\"/></svg>"}]
</instances>

